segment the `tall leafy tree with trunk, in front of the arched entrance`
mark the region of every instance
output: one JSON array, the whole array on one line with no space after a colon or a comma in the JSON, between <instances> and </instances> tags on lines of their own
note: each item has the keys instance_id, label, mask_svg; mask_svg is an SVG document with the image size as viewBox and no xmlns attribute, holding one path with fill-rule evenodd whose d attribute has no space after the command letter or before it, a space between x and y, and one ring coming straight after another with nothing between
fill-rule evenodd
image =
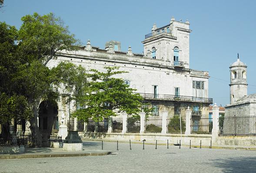
<instances>
[{"instance_id":1,"label":"tall leafy tree with trunk, in front of the arched entrance","mask_svg":"<svg viewBox=\"0 0 256 173\"><path fill-rule=\"evenodd\" d=\"M57 51L75 49L77 40L53 13L43 16L34 13L21 20L23 24L18 32L18 48L22 64L15 81L20 84L19 92L27 98L33 112L30 119L31 136L35 141L33 145L40 147L42 138L37 125L38 108L42 100L57 99L57 86L61 82L56 70L46 65L56 57Z\"/></svg>"}]
</instances>

